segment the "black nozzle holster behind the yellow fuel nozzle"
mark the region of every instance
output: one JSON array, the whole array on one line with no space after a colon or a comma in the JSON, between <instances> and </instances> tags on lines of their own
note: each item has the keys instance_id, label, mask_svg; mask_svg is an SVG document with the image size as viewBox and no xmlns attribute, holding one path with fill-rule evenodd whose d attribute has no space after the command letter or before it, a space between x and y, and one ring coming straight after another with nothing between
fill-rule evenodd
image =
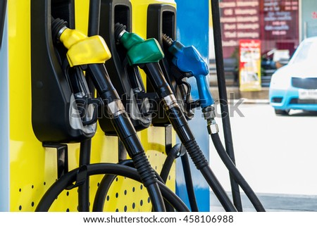
<instances>
[{"instance_id":1,"label":"black nozzle holster behind the yellow fuel nozzle","mask_svg":"<svg viewBox=\"0 0 317 226\"><path fill-rule=\"evenodd\" d=\"M49 2L31 2L32 127L44 145L45 142L81 142L93 137L97 130L96 110L93 103L88 103L92 97L85 77L65 65L63 49L54 46L51 33L55 29L55 24L51 25L51 16L56 16L54 8L58 8L59 15L67 12L62 18L69 21L70 27L75 27L75 8L70 2L56 2L51 15L44 10L44 4ZM87 118L77 115L80 110L87 113Z\"/></svg>"}]
</instances>

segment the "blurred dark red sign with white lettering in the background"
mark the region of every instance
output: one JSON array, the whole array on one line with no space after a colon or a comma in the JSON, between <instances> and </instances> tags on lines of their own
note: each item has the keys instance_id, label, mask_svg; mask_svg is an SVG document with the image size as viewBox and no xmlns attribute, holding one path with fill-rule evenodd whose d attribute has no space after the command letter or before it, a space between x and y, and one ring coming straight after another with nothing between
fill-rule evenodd
<instances>
[{"instance_id":1,"label":"blurred dark red sign with white lettering in the background","mask_svg":"<svg viewBox=\"0 0 317 226\"><path fill-rule=\"evenodd\" d=\"M298 44L299 0L221 0L219 6L224 58L237 57L240 39L260 39L263 51L292 52Z\"/></svg>"}]
</instances>

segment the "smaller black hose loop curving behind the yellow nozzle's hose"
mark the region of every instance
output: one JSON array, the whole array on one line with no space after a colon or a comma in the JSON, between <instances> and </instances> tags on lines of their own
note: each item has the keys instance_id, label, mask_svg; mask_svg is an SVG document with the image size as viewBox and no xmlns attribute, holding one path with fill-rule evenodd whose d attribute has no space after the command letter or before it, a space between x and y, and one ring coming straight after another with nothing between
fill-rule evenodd
<instances>
[{"instance_id":1,"label":"smaller black hose loop curving behind the yellow nozzle's hose","mask_svg":"<svg viewBox=\"0 0 317 226\"><path fill-rule=\"evenodd\" d=\"M120 161L118 164L127 165L129 167L134 168L134 164L133 164L132 159ZM92 211L94 211L94 212L104 211L104 202L106 201L106 195L108 194L108 190L110 189L111 184L116 179L116 177L117 177L117 175L104 175L104 177L102 178L102 180L99 184L96 195L94 196L94 206L92 207ZM165 182L163 182L160 175L158 175L157 173L156 173L156 177L160 182L165 184ZM174 208L173 208L173 206L170 206L170 203L168 203L167 201L164 201L164 203L166 206L166 211L174 212Z\"/></svg>"}]
</instances>

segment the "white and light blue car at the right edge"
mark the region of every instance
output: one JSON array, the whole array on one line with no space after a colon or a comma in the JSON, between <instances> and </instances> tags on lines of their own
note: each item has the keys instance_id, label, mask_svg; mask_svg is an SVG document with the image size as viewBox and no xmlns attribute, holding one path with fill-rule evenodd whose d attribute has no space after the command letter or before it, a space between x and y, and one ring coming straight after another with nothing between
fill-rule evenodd
<instances>
[{"instance_id":1,"label":"white and light blue car at the right edge","mask_svg":"<svg viewBox=\"0 0 317 226\"><path fill-rule=\"evenodd\" d=\"M276 114L317 111L317 37L304 39L290 63L272 75L269 99Z\"/></svg>"}]
</instances>

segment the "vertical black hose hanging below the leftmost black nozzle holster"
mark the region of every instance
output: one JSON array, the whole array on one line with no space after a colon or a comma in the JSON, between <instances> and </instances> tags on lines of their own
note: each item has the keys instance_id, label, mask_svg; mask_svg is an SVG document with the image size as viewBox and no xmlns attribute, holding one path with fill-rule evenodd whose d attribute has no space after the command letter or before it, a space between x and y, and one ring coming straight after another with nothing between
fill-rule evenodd
<instances>
[{"instance_id":1,"label":"vertical black hose hanging below the leftmost black nozzle holster","mask_svg":"<svg viewBox=\"0 0 317 226\"><path fill-rule=\"evenodd\" d=\"M92 139L86 139L80 142L80 165L90 164L90 153L92 148ZM84 184L78 187L78 211L89 212L89 177Z\"/></svg>"}]
</instances>

